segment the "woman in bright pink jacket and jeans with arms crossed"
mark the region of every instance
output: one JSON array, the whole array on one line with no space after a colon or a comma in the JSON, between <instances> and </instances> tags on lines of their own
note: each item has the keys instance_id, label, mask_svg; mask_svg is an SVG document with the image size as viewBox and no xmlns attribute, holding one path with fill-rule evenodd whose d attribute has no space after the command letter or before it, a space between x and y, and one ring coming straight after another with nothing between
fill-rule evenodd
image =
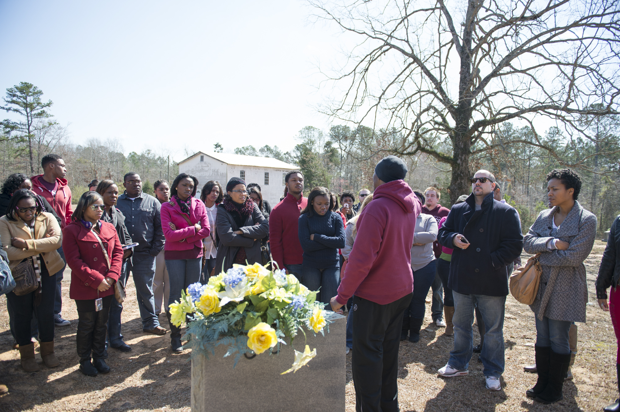
<instances>
[{"instance_id":1,"label":"woman in bright pink jacket and jeans with arms crossed","mask_svg":"<svg viewBox=\"0 0 620 412\"><path fill-rule=\"evenodd\" d=\"M170 187L170 201L161 205L161 227L166 238L164 255L170 278L166 315L175 352L183 351L181 328L170 322L169 305L181 298L182 290L200 280L202 239L211 231L205 204L193 197L197 186L197 178L187 173L179 174Z\"/></svg>"}]
</instances>

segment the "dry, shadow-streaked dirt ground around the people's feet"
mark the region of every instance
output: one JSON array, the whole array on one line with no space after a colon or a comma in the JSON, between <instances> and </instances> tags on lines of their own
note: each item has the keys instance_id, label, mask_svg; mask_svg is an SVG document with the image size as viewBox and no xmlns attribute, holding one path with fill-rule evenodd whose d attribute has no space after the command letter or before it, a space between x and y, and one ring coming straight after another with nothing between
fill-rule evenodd
<instances>
[{"instance_id":1,"label":"dry, shadow-streaked dirt ground around the people's feet","mask_svg":"<svg viewBox=\"0 0 620 412\"><path fill-rule=\"evenodd\" d=\"M605 243L596 241L586 261L590 303L587 323L578 324L578 354L572 381L564 384L564 400L541 405L525 396L536 382L536 375L523 372L523 365L534 362L536 330L529 307L508 296L504 338L506 370L502 390L484 387L482 364L474 354L469 375L441 378L453 338L444 328L431 324L430 304L418 343L401 344L399 364L399 402L402 411L600 411L618 397L614 364L616 338L609 314L596 306L594 281ZM524 255L524 257L527 257ZM78 314L69 300L69 274L63 280L63 316L67 327L56 327L56 355L60 366L27 374L19 364L19 353L11 349L6 298L0 298L0 382L10 392L0 397L0 411L189 411L190 363L188 351L173 354L169 335L142 332L135 288L131 279L123 311L123 335L133 351L110 350L112 372L86 377L78 371L75 333ZM167 327L165 317L162 326ZM474 343L478 343L474 327ZM344 350L344 345L343 345ZM355 410L355 389L347 356L347 411Z\"/></svg>"}]
</instances>

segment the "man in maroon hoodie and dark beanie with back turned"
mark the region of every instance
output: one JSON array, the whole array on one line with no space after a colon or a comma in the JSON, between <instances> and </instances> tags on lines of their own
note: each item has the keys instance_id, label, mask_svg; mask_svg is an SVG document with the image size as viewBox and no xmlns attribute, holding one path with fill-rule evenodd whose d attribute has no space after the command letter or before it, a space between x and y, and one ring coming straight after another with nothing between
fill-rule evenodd
<instances>
[{"instance_id":1,"label":"man in maroon hoodie and dark beanie with back turned","mask_svg":"<svg viewBox=\"0 0 620 412\"><path fill-rule=\"evenodd\" d=\"M411 245L422 204L403 181L407 166L388 156L374 168L373 201L357 220L349 255L332 309L353 296L352 370L355 410L397 412L398 349L402 314L414 290Z\"/></svg>"}]
</instances>

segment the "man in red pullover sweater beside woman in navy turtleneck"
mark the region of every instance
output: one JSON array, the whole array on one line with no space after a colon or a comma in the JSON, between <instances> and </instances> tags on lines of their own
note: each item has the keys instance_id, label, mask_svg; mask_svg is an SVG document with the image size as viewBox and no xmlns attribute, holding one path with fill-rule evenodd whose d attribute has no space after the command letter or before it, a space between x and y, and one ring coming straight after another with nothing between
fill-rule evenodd
<instances>
[{"instance_id":1,"label":"man in red pullover sweater beside woman in navy turtleneck","mask_svg":"<svg viewBox=\"0 0 620 412\"><path fill-rule=\"evenodd\" d=\"M293 273L301 281L303 249L299 243L299 213L306 208L308 199L303 195L304 175L299 170L286 173L286 197L275 205L269 215L269 242L272 258L286 273Z\"/></svg>"}]
</instances>

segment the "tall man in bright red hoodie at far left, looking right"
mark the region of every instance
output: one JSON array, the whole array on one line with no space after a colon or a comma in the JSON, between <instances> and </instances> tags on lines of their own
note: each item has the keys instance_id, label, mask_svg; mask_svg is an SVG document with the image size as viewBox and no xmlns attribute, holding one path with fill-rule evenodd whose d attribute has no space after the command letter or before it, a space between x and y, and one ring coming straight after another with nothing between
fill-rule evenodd
<instances>
[{"instance_id":1,"label":"tall man in bright red hoodie at far left, looking right","mask_svg":"<svg viewBox=\"0 0 620 412\"><path fill-rule=\"evenodd\" d=\"M32 191L47 200L54 209L58 217L60 217L60 227L71 223L71 189L67 185L67 168L64 166L64 160L60 155L50 153L41 159L41 167L43 174L32 176ZM58 249L61 257L64 259L63 247ZM63 281L63 272L66 265L56 273L56 298L54 303L54 324L56 326L68 326L71 322L63 319L61 310L63 309L63 298L61 293L61 285Z\"/></svg>"}]
</instances>

